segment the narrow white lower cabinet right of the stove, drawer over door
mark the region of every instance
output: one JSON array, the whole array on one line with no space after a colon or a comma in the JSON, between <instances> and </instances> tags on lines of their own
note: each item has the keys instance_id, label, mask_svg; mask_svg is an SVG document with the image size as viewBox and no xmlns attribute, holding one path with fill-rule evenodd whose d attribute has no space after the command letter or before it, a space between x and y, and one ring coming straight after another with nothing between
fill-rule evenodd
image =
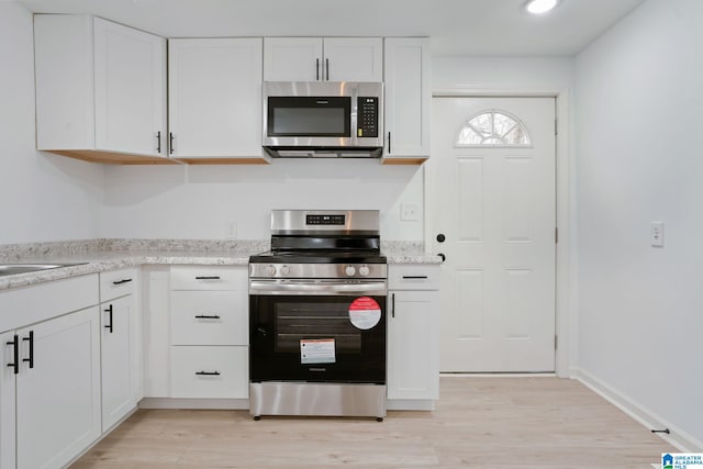
<instances>
[{"instance_id":1,"label":"narrow white lower cabinet right of the stove, drawer over door","mask_svg":"<svg viewBox=\"0 0 703 469\"><path fill-rule=\"evenodd\" d=\"M389 409L432 409L439 397L438 273L438 265L389 266Z\"/></svg>"}]
</instances>

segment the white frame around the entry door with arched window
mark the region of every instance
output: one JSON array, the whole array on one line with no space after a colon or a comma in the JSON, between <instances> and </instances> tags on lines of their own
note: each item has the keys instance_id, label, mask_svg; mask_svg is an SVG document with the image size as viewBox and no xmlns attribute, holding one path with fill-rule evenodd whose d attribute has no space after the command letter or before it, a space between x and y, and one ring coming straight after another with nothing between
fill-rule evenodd
<instances>
[{"instance_id":1,"label":"white frame around the entry door with arched window","mask_svg":"<svg viewBox=\"0 0 703 469\"><path fill-rule=\"evenodd\" d=\"M571 183L571 167L574 155L571 149L571 110L568 90L476 90L466 88L433 90L432 98L554 98L555 116L557 119L555 136L556 157L556 220L558 227L558 243L555 253L555 373L561 378L572 376L572 360L577 357L578 334L576 320L576 267L571 265L571 239L576 227L571 220L572 201L576 200ZM432 130L431 130L432 132ZM432 134L431 134L432 137ZM432 158L432 156L431 156ZM431 213L427 208L433 206L434 187L432 170L424 170L425 206L423 212ZM435 179L436 180L436 179ZM424 238L425 250L431 254L432 239L436 232L428 215L425 215ZM572 293L573 292L573 293Z\"/></svg>"}]
</instances>

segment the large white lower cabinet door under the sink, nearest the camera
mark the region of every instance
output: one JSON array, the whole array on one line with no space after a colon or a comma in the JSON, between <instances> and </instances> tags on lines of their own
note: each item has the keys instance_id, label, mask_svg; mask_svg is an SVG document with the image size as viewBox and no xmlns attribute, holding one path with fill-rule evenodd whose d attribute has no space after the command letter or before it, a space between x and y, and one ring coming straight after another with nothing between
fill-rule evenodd
<instances>
[{"instance_id":1,"label":"large white lower cabinet door under the sink, nearest the camera","mask_svg":"<svg viewBox=\"0 0 703 469\"><path fill-rule=\"evenodd\" d=\"M18 331L32 359L16 378L18 469L63 467L100 436L99 322L92 306Z\"/></svg>"}]
</instances>

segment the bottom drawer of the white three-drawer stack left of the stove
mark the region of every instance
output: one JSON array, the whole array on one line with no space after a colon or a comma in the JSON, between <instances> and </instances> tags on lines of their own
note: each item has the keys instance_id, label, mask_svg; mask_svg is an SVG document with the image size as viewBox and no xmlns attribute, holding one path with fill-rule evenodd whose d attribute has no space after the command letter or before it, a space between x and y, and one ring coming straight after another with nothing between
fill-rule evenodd
<instances>
[{"instance_id":1,"label":"bottom drawer of the white three-drawer stack left of the stove","mask_svg":"<svg viewBox=\"0 0 703 469\"><path fill-rule=\"evenodd\" d=\"M247 399L248 347L171 347L171 397Z\"/></svg>"}]
</instances>

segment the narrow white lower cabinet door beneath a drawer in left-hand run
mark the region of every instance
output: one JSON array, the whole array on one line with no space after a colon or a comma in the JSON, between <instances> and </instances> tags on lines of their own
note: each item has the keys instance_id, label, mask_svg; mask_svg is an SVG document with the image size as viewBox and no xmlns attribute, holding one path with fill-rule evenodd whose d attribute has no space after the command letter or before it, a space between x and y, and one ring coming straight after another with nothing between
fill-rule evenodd
<instances>
[{"instance_id":1,"label":"narrow white lower cabinet door beneath a drawer in left-hand run","mask_svg":"<svg viewBox=\"0 0 703 469\"><path fill-rule=\"evenodd\" d=\"M137 347L132 335L136 308L132 295L101 304L102 431L107 432L136 405Z\"/></svg>"}]
</instances>

